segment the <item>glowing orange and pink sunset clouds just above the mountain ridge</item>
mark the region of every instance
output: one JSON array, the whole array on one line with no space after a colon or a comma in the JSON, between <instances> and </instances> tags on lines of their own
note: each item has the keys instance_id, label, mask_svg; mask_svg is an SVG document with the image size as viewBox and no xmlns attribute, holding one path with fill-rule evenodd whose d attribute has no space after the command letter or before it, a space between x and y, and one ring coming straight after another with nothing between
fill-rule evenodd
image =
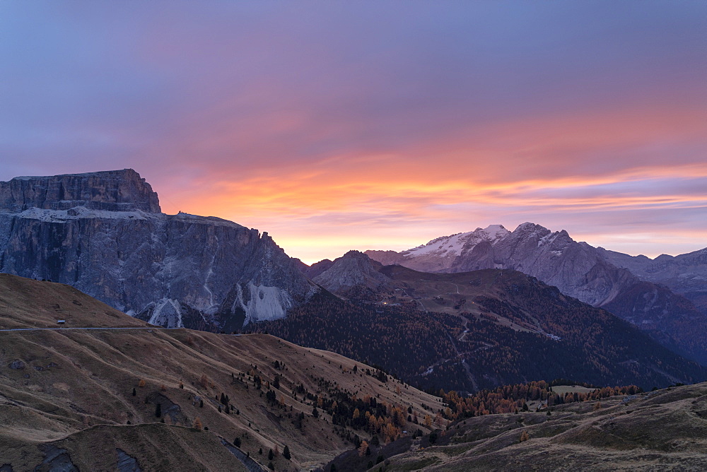
<instances>
[{"instance_id":1,"label":"glowing orange and pink sunset clouds just above the mountain ridge","mask_svg":"<svg viewBox=\"0 0 707 472\"><path fill-rule=\"evenodd\" d=\"M351 148L292 159L282 143L262 136L274 130L317 141L345 126L313 119L281 112L216 129L204 119L202 137L175 151L177 160L187 161L185 152L217 158L194 162L201 173L180 180L179 191L170 182L156 187L163 208L267 230L288 254L313 262L351 248L407 249L438 235L492 223L512 229L525 220L575 230L597 244L623 244L611 237L617 231L635 235L629 252L641 247L653 254L662 252L662 241L675 240L659 237L670 231L646 232L640 222L621 226L611 215L625 221L631 212L660 228L661 211L707 207L707 112L697 108L537 117L428 136L419 147L395 152ZM180 141L172 144L180 149ZM252 155L218 157L243 146ZM602 230L586 232L583 225ZM641 243L646 234L655 236L653 246ZM689 234L693 249L707 246L707 231Z\"/></svg>"}]
</instances>

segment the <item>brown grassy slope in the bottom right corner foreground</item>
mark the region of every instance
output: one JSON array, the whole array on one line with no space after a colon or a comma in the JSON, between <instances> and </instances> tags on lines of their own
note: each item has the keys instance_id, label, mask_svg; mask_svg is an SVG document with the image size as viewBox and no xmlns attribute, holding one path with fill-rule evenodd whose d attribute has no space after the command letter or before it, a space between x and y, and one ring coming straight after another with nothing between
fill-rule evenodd
<instances>
[{"instance_id":1,"label":"brown grassy slope in the bottom right corner foreground","mask_svg":"<svg viewBox=\"0 0 707 472\"><path fill-rule=\"evenodd\" d=\"M568 403L551 415L467 418L450 425L438 445L412 449L388 458L385 471L703 471L707 384L614 397L598 408Z\"/></svg>"}]
</instances>

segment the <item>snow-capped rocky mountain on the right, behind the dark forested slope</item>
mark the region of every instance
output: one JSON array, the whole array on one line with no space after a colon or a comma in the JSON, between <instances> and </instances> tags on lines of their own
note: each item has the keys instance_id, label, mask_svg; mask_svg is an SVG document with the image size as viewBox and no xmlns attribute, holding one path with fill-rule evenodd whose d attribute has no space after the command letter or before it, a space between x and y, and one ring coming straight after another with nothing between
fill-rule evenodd
<instances>
[{"instance_id":1,"label":"snow-capped rocky mountain on the right, behind the dark forested slope","mask_svg":"<svg viewBox=\"0 0 707 472\"><path fill-rule=\"evenodd\" d=\"M689 268L693 270L690 280L696 283L693 292L705 293L705 285L701 285L702 273L695 273L694 269L698 264L694 261L700 261L701 254L693 253L690 259L679 259L679 256L659 261L658 258L651 265L641 258L636 260L626 254L576 242L564 230L551 232L534 223L523 223L513 232L493 225L485 230L440 237L399 253L366 251L366 254L382 264L400 264L418 271L457 273L513 269L527 273L556 286L566 295L609 309L650 331L667 345L673 348L677 345L678 349L707 361L706 314L700 313L682 295L653 283L667 279L667 276L658 278L657 273L679 273L681 275L673 277L674 285L679 285L679 281L685 279L681 270L689 272ZM675 269L681 260L684 266ZM643 269L637 271L636 267ZM661 271L659 267L665 269Z\"/></svg>"}]
</instances>

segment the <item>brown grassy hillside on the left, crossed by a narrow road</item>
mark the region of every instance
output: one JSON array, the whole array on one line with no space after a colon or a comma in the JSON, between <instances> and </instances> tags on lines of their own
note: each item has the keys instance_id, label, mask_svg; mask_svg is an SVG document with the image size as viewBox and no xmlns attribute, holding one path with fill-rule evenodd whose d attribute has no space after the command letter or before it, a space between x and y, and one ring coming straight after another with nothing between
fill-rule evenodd
<instances>
[{"instance_id":1,"label":"brown grassy hillside on the left, crossed by a narrow road","mask_svg":"<svg viewBox=\"0 0 707 472\"><path fill-rule=\"evenodd\" d=\"M267 335L152 329L67 285L0 275L0 329L53 328L57 319L102 329L0 332L0 467L33 470L64 449L81 470L115 470L120 449L142 470L240 470L219 439L238 437L240 449L264 466L269 449L281 453L287 445L292 459L276 454L276 470L309 468L353 445L327 413L312 417L312 402L293 394L298 384L327 396L328 380L359 397L411 406L420 417L423 403L438 401L354 374L354 365L363 365L335 353ZM103 329L115 327L141 329ZM284 368L276 369L275 360ZM276 374L279 389L269 384ZM280 405L266 400L269 388ZM218 401L221 394L233 412ZM165 424L156 418L158 403ZM300 412L301 429L293 421ZM196 418L203 431L192 428Z\"/></svg>"}]
</instances>

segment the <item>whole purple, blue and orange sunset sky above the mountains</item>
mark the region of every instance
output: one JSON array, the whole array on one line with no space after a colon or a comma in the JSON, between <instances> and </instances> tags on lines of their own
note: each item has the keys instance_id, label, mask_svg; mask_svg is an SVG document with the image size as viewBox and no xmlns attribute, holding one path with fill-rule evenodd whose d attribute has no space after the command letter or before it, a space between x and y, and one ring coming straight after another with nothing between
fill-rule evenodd
<instances>
[{"instance_id":1,"label":"whole purple, blue and orange sunset sky above the mountains","mask_svg":"<svg viewBox=\"0 0 707 472\"><path fill-rule=\"evenodd\" d=\"M307 263L707 247L705 1L0 1L0 180L133 168Z\"/></svg>"}]
</instances>

